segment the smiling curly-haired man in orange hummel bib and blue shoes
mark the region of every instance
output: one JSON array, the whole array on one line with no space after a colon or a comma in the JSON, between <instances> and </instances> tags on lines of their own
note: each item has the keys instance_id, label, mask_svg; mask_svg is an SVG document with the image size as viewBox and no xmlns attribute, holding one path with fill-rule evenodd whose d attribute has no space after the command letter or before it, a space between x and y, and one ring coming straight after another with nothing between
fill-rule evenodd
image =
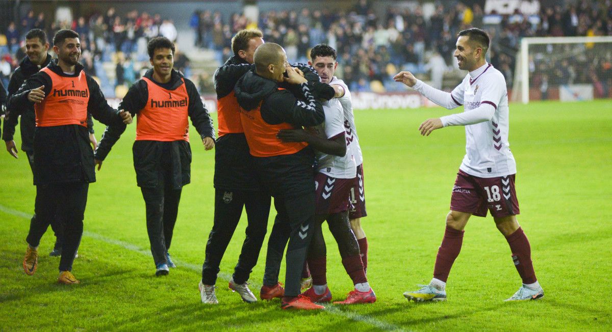
<instances>
[{"instance_id":1,"label":"smiling curly-haired man in orange hummel bib and blue shoes","mask_svg":"<svg viewBox=\"0 0 612 332\"><path fill-rule=\"evenodd\" d=\"M138 116L132 148L134 169L146 205L155 275L160 276L168 275L168 267L175 266L168 249L182 187L191 182L188 118L206 150L215 146L215 133L193 82L173 70L174 44L165 37L156 37L149 41L147 51L153 69L130 87L119 108ZM95 150L98 168L124 131L122 124L106 128Z\"/></svg>"}]
</instances>

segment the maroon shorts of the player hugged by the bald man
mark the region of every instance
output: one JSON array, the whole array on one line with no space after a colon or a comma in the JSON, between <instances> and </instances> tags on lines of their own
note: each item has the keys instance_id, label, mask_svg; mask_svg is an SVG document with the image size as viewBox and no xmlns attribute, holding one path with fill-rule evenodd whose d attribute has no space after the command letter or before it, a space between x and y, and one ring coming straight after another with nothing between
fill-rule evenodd
<instances>
[{"instance_id":1,"label":"maroon shorts of the player hugged by the bald man","mask_svg":"<svg viewBox=\"0 0 612 332\"><path fill-rule=\"evenodd\" d=\"M315 175L315 213L329 215L348 210L349 188L353 179L337 179L327 174Z\"/></svg>"}]
</instances>

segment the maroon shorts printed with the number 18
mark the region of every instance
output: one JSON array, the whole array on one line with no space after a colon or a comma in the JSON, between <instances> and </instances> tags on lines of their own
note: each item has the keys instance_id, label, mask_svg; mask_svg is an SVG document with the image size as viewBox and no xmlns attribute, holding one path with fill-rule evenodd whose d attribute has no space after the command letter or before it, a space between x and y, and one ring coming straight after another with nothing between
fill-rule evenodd
<instances>
[{"instance_id":1,"label":"maroon shorts printed with the number 18","mask_svg":"<svg viewBox=\"0 0 612 332\"><path fill-rule=\"evenodd\" d=\"M518 215L515 174L503 177L475 177L459 171L450 197L450 210L494 217Z\"/></svg>"}]
</instances>

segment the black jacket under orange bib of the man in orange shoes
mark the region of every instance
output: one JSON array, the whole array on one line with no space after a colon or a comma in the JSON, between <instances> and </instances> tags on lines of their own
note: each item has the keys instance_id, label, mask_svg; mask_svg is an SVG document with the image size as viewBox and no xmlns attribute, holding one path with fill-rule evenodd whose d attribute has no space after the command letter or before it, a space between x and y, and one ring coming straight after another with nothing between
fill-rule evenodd
<instances>
[{"instance_id":1,"label":"black jacket under orange bib of the man in orange shoes","mask_svg":"<svg viewBox=\"0 0 612 332\"><path fill-rule=\"evenodd\" d=\"M67 75L53 59L47 66L54 73L64 77L78 77L83 65L77 64L75 73ZM86 75L89 89L87 111L94 119L106 125L123 124L119 111L108 106L102 90L91 76ZM26 79L20 89L10 97L9 113L15 116L33 108L28 100L30 90L45 86L45 95L53 90L50 76L37 72ZM89 144L88 128L81 125L59 125L36 127L34 130L34 185L68 182L95 182L94 152Z\"/></svg>"}]
</instances>

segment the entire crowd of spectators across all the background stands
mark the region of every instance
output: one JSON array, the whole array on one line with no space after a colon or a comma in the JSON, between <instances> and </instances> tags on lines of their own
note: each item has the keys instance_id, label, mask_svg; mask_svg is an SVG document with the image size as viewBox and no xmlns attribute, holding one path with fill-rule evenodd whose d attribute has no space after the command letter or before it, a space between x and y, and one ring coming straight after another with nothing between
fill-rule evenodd
<instances>
[{"instance_id":1,"label":"entire crowd of spectators across all the background stands","mask_svg":"<svg viewBox=\"0 0 612 332\"><path fill-rule=\"evenodd\" d=\"M231 37L244 28L259 28L266 42L282 45L289 61L306 62L310 48L327 43L338 51L337 75L354 91L394 91L404 89L392 76L399 70L411 70L438 88L452 88L465 75L453 59L457 32L477 26L491 35L490 62L506 76L509 88L522 37L612 35L612 2L580 1L577 6L544 7L538 15L485 13L479 4L436 2L432 15L425 15L422 4L413 7L390 6L383 15L372 2L359 0L348 10L304 8L271 10L259 13L258 21L234 13L224 19L221 12L197 10L189 26L195 32L195 46L214 50L219 63L232 54ZM47 20L45 13L29 11L6 29L6 45L0 43L0 78L9 73L25 56L23 36L29 29L45 29L50 36L58 29L71 28L81 35L81 63L86 72L103 76L103 63L111 63L113 78L103 87L129 86L149 66L146 43L163 35L176 40L171 20L159 13L132 10L119 15L114 8L105 13L76 17L70 21ZM529 68L532 87L548 89L566 83L594 83L607 96L612 86L612 52L605 47L582 45L548 46L532 53ZM565 54L565 56L564 56ZM580 56L578 56L580 55ZM190 61L176 54L175 67L190 76ZM212 69L214 70L214 69ZM201 92L212 92L212 70L195 73ZM443 79L448 78L448 79ZM105 92L106 93L106 92ZM111 93L111 95L113 95Z\"/></svg>"}]
</instances>

